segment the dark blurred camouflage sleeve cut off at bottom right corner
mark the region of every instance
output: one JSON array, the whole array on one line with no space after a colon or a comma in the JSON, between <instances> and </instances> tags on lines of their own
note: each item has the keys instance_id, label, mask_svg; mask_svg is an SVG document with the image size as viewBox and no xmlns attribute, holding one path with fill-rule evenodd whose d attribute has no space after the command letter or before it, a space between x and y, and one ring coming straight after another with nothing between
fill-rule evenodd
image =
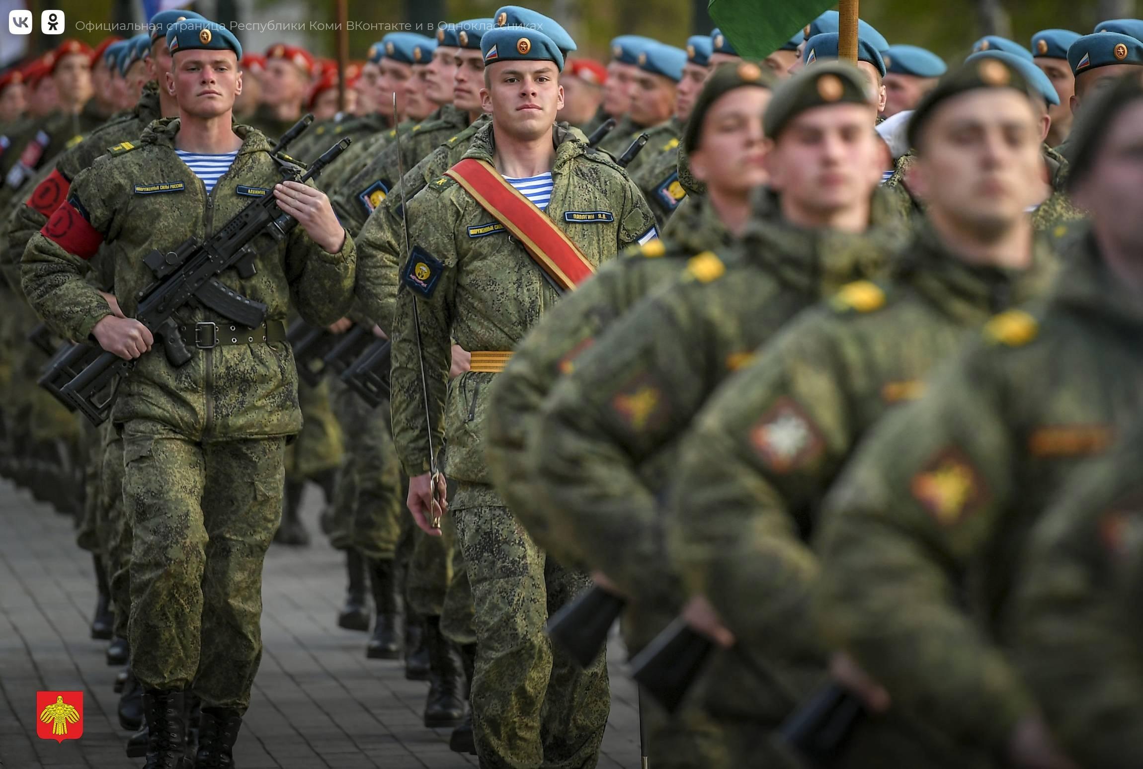
<instances>
[{"instance_id":1,"label":"dark blurred camouflage sleeve cut off at bottom right corner","mask_svg":"<svg viewBox=\"0 0 1143 769\"><path fill-rule=\"evenodd\" d=\"M1033 531L1010 616L1012 655L1081 766L1143 755L1143 516L1136 424L1069 482Z\"/></svg>"}]
</instances>

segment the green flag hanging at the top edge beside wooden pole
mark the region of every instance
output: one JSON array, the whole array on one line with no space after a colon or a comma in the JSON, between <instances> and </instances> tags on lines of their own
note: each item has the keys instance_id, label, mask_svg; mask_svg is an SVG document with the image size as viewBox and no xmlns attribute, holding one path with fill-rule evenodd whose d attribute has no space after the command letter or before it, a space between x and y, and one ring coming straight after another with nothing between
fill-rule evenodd
<instances>
[{"instance_id":1,"label":"green flag hanging at the top edge beside wooden pole","mask_svg":"<svg viewBox=\"0 0 1143 769\"><path fill-rule=\"evenodd\" d=\"M837 0L710 0L708 10L744 58L766 58Z\"/></svg>"}]
</instances>

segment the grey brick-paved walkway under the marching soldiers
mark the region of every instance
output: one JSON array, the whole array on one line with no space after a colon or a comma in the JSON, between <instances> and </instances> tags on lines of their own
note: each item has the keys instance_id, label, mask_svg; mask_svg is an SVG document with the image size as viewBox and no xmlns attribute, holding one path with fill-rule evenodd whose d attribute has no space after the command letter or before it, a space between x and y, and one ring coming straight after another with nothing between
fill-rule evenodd
<instances>
[{"instance_id":1,"label":"grey brick-paved walkway under the marching soldiers","mask_svg":"<svg viewBox=\"0 0 1143 769\"><path fill-rule=\"evenodd\" d=\"M307 502L306 523L317 532L317 502ZM448 750L448 730L422 726L427 684L406 681L399 663L366 659L366 635L335 626L341 558L314 539L304 550L275 545L266 560L265 651L235 748L239 769L474 767ZM0 481L0 768L142 766L123 753L118 671L104 662L105 642L88 638L94 583L71 520ZM639 767L634 690L618 651L601 769ZM82 737L37 737L35 692L43 689L83 691Z\"/></svg>"}]
</instances>

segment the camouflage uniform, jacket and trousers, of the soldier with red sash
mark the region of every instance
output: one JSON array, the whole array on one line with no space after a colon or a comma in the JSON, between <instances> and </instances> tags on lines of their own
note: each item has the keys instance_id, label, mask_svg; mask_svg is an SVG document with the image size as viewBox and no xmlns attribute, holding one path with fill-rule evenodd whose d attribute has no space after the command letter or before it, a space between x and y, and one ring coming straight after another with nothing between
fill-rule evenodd
<instances>
[{"instance_id":1,"label":"camouflage uniform, jacket and trousers, of the soldier with red sash","mask_svg":"<svg viewBox=\"0 0 1143 769\"><path fill-rule=\"evenodd\" d=\"M607 155L588 149L576 134L553 130L554 189L545 214L598 265L648 234L654 218L638 187ZM490 126L473 136L465 157L491 161ZM572 210L613 216L566 223L563 215ZM471 700L481 764L590 766L609 710L606 660L600 657L581 671L553 654L543 635L549 612L586 580L545 558L488 484L480 435L494 375L467 371L447 383L454 338L470 351L511 350L558 296L506 233L464 237L466 227L487 224L491 216L451 178L422 190L408 219L411 242L443 266L431 296L415 297L405 286L397 297L393 431L406 472L426 472L422 369L411 338L411 303L417 302L433 444L442 444L447 430L447 472L457 482L450 514L477 606Z\"/></svg>"}]
</instances>

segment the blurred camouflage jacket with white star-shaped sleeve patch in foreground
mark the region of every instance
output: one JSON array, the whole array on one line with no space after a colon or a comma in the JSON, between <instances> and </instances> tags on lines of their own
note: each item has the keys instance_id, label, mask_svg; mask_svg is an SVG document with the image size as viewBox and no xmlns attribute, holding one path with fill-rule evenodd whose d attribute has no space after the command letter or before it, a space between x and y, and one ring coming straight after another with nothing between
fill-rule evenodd
<instances>
[{"instance_id":1,"label":"blurred camouflage jacket with white star-shaped sleeve patch in foreground","mask_svg":"<svg viewBox=\"0 0 1143 769\"><path fill-rule=\"evenodd\" d=\"M1040 241L1032 259L1020 272L974 267L926 230L896 261L892 282L852 283L800 315L696 417L679 448L666 539L687 591L706 595L737 640L720 671L732 678L718 689L745 681L750 696L706 703L716 718L774 729L799 695L810 694L807 684L824 682L826 649L809 617L818 564L806 544L821 499L865 432L918 398L926 374L968 329L1046 290L1055 255ZM754 680L737 654L773 679ZM773 691L760 696L767 684ZM893 761L889 745L874 745L872 755L852 761L968 763L964 755L953 761L954 746L940 742L927 758Z\"/></svg>"}]
</instances>

